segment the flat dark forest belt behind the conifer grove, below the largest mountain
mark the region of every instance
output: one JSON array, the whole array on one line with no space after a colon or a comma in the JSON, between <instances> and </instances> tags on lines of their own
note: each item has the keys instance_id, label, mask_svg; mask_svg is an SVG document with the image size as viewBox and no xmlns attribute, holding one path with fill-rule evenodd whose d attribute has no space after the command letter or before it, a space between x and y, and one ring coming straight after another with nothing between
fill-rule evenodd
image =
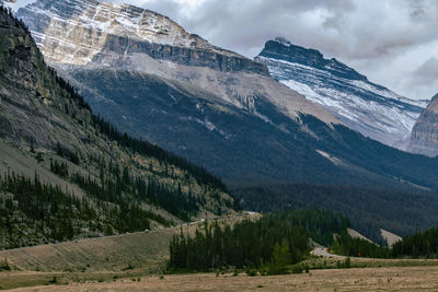
<instances>
[{"instance_id":1,"label":"flat dark forest belt behind the conifer grove, below the largest mountain","mask_svg":"<svg viewBox=\"0 0 438 292\"><path fill-rule=\"evenodd\" d=\"M404 236L438 222L437 195L414 188L265 184L235 185L232 191L243 208L254 211L323 208L341 212L353 229L374 242L382 240L380 229Z\"/></svg>"}]
</instances>

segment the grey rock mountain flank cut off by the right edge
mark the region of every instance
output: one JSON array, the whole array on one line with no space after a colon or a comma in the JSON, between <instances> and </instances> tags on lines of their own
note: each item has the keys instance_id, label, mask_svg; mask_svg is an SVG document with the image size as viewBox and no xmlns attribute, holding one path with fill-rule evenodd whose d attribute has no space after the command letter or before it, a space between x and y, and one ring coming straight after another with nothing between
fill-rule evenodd
<instances>
[{"instance_id":1,"label":"grey rock mountain flank cut off by the right edge","mask_svg":"<svg viewBox=\"0 0 438 292\"><path fill-rule=\"evenodd\" d=\"M408 150L428 156L438 155L438 94L423 110L411 133Z\"/></svg>"}]
</instances>

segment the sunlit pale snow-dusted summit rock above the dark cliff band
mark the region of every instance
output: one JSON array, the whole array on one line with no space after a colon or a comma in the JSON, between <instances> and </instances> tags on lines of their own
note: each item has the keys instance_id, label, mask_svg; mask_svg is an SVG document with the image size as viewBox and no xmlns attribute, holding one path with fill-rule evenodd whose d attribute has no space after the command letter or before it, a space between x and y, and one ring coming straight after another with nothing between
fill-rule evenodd
<instances>
[{"instance_id":1,"label":"sunlit pale snow-dusted summit rock above the dark cliff band","mask_svg":"<svg viewBox=\"0 0 438 292\"><path fill-rule=\"evenodd\" d=\"M95 0L37 0L24 8L21 5L18 16L31 24L31 33L43 52L46 47L47 50L55 50L49 61L56 63L90 63L102 51L108 35L243 58L187 33L164 15L130 4Z\"/></svg>"}]
</instances>

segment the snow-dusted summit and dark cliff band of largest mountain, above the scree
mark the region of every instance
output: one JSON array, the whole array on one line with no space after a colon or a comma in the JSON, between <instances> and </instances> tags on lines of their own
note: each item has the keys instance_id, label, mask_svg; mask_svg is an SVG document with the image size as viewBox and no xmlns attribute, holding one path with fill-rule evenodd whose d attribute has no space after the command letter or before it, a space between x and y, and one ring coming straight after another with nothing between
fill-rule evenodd
<instances>
[{"instance_id":1,"label":"snow-dusted summit and dark cliff band of largest mountain, above the scree","mask_svg":"<svg viewBox=\"0 0 438 292\"><path fill-rule=\"evenodd\" d=\"M20 9L38 47L51 63L89 65L102 54L153 58L220 71L268 74L265 66L210 45L170 19L128 4L94 0L37 1Z\"/></svg>"}]
</instances>

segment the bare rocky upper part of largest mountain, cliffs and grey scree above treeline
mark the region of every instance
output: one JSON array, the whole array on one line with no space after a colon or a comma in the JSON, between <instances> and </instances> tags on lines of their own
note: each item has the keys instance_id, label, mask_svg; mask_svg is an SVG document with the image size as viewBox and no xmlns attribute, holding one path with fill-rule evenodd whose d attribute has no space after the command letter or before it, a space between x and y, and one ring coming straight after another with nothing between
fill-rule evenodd
<instances>
[{"instance_id":1,"label":"bare rocky upper part of largest mountain, cliffs and grey scree above treeline","mask_svg":"<svg viewBox=\"0 0 438 292\"><path fill-rule=\"evenodd\" d=\"M67 73L78 68L135 70L207 89L249 110L254 110L253 100L263 96L291 117L303 113L338 122L278 86L266 66L215 47L148 10L94 0L38 0L20 9L18 16L28 25L47 62Z\"/></svg>"}]
</instances>

